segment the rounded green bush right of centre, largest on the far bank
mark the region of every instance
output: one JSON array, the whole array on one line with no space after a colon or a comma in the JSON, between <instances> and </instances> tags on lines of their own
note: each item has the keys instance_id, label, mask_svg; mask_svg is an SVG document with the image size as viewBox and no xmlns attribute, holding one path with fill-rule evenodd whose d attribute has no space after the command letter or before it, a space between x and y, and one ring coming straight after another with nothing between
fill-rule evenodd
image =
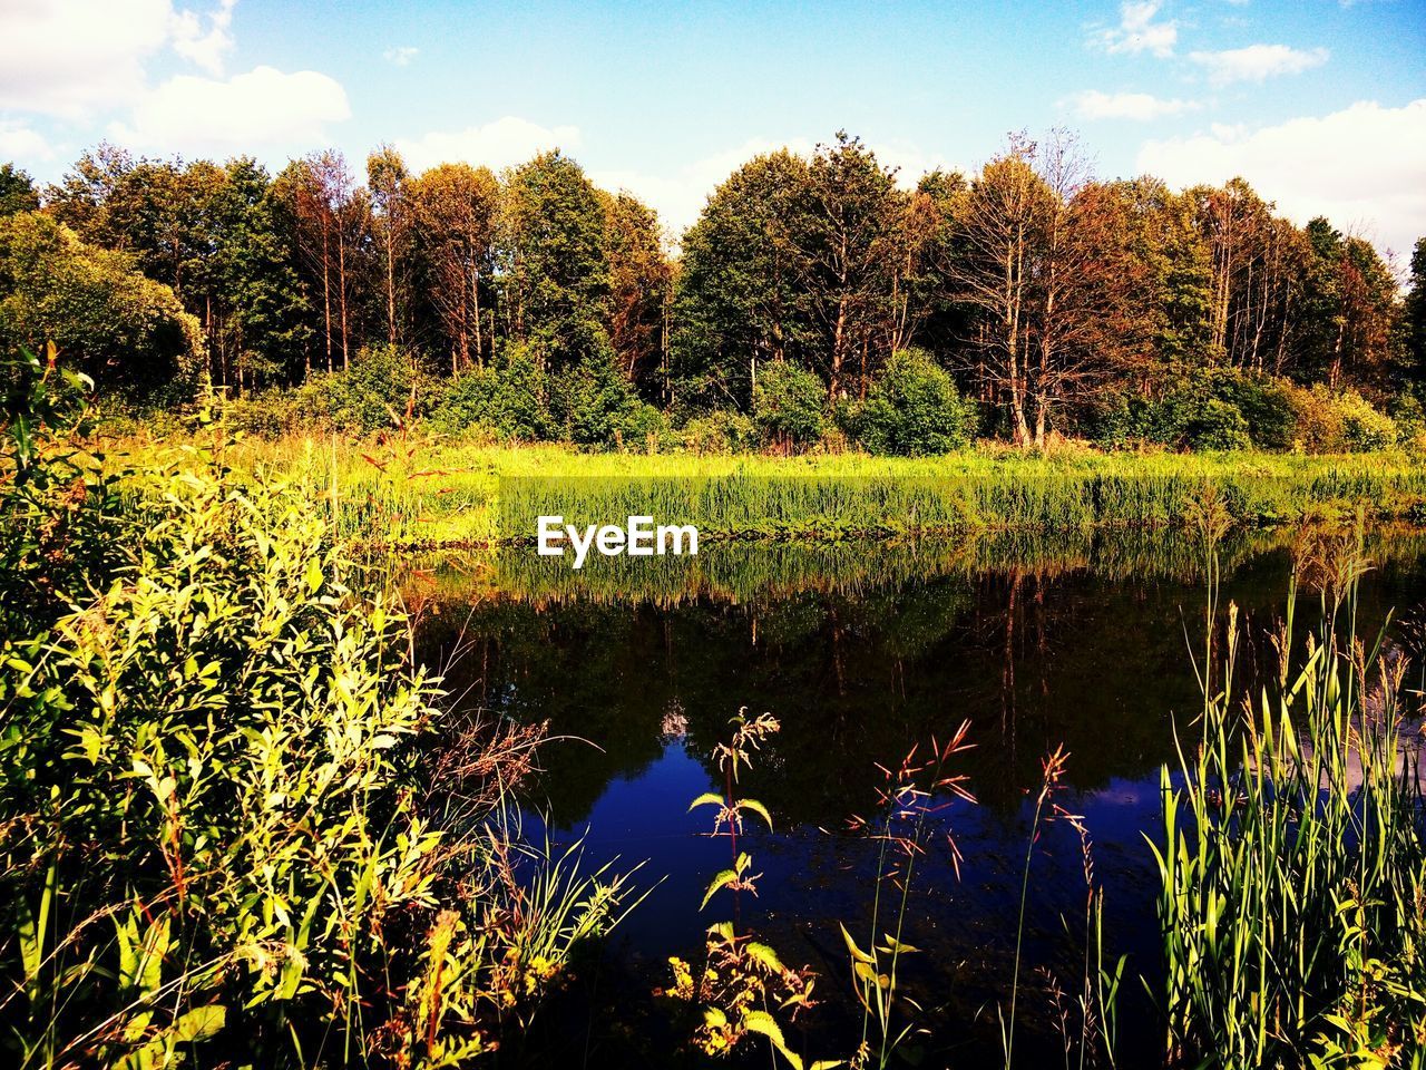
<instances>
[{"instance_id":1,"label":"rounded green bush right of centre, largest on the far bank","mask_svg":"<svg viewBox=\"0 0 1426 1070\"><path fill-rule=\"evenodd\" d=\"M945 454L970 445L974 428L974 405L923 350L894 354L847 415L847 431L873 454Z\"/></svg>"}]
</instances>

